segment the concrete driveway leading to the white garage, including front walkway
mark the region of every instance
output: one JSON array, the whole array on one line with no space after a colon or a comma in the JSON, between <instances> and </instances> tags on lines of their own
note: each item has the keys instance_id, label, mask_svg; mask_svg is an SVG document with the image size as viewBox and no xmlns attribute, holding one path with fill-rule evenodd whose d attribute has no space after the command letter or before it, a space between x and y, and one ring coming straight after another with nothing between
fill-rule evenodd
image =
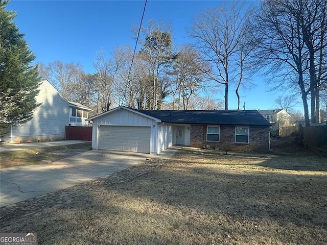
<instances>
[{"instance_id":1,"label":"concrete driveway leading to the white garage, including front walkway","mask_svg":"<svg viewBox=\"0 0 327 245\"><path fill-rule=\"evenodd\" d=\"M159 155L88 151L56 162L0 170L0 207L113 174L147 158L170 159L178 147Z\"/></svg>"}]
</instances>

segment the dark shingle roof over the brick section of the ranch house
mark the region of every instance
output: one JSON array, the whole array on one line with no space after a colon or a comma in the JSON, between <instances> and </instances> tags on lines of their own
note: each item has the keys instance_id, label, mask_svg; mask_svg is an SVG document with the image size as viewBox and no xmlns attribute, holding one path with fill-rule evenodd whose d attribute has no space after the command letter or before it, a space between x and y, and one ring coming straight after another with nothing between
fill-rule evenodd
<instances>
[{"instance_id":1,"label":"dark shingle roof over the brick section of the ranch house","mask_svg":"<svg viewBox=\"0 0 327 245\"><path fill-rule=\"evenodd\" d=\"M271 126L256 110L136 110L173 124Z\"/></svg>"}]
</instances>

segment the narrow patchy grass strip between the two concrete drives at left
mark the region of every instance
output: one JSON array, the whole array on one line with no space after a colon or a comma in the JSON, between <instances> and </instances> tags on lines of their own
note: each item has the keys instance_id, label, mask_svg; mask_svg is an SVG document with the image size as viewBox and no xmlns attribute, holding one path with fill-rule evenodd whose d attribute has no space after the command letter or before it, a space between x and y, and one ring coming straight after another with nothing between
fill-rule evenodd
<instances>
[{"instance_id":1,"label":"narrow patchy grass strip between the two concrete drives at left","mask_svg":"<svg viewBox=\"0 0 327 245\"><path fill-rule=\"evenodd\" d=\"M8 151L0 154L0 168L34 165L44 162L53 162L65 157L88 151L91 143L68 144L33 148L26 150Z\"/></svg>"}]
</instances>

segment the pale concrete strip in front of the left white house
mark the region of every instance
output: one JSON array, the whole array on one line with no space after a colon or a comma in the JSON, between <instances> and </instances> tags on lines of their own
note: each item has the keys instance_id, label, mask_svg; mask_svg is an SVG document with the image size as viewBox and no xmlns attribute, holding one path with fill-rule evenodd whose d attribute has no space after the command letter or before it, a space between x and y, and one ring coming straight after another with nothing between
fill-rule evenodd
<instances>
[{"instance_id":1,"label":"pale concrete strip in front of the left white house","mask_svg":"<svg viewBox=\"0 0 327 245\"><path fill-rule=\"evenodd\" d=\"M21 143L21 144L0 144L0 153L8 151L25 150L31 148L43 148L49 146L58 146L66 144L80 144L91 141L86 140L59 140L59 141L46 141L46 142L32 142L32 143Z\"/></svg>"}]
</instances>

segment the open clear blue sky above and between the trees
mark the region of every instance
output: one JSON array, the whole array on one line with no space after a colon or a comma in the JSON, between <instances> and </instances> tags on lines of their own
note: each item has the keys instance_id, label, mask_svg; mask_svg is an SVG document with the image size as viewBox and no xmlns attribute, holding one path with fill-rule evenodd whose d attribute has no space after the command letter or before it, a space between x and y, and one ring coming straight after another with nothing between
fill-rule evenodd
<instances>
[{"instance_id":1,"label":"open clear blue sky above and between the trees","mask_svg":"<svg viewBox=\"0 0 327 245\"><path fill-rule=\"evenodd\" d=\"M47 64L59 60L80 63L85 72L93 73L93 61L101 49L107 56L119 45L134 47L132 27L141 21L145 1L22 1L12 0L6 10L17 13L14 22L25 34L36 55L35 62ZM213 8L220 1L155 1L148 0L143 24L149 19L172 25L173 45L188 42L187 29L192 19L204 8ZM258 2L252 1L252 4ZM252 78L255 86L241 91L246 109L275 109L278 95L290 91L268 92L264 79ZM215 94L223 100L223 93ZM235 91L229 92L229 109L237 109ZM298 106L303 111L300 97Z\"/></svg>"}]
</instances>

